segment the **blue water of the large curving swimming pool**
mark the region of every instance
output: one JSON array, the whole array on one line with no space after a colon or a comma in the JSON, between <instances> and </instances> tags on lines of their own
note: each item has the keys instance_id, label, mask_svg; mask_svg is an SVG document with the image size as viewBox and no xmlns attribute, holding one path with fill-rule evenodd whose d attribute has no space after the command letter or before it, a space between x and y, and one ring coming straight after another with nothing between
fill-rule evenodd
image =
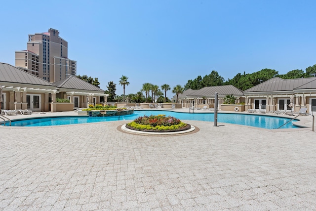
<instances>
[{"instance_id":1,"label":"blue water of the large curving swimming pool","mask_svg":"<svg viewBox=\"0 0 316 211\"><path fill-rule=\"evenodd\" d=\"M198 120L206 122L214 122L214 113L179 113L172 111L134 111L132 115L115 116L115 117L53 117L53 118L36 118L28 120L12 121L11 126L20 127L34 127L34 126L59 126L59 125L70 125L70 124L82 124L82 123L96 123L96 122L108 122L108 121L119 121L119 120L134 120L139 116L144 115L158 115L165 114L166 116L173 116L180 120ZM279 118L263 115L251 115L251 114L225 114L218 113L217 121L218 125L221 123L230 123L244 126L261 127L266 129L276 129L289 121L288 118ZM295 122L297 120L294 120ZM281 128L298 128L293 126L291 123L286 124Z\"/></svg>"}]
</instances>

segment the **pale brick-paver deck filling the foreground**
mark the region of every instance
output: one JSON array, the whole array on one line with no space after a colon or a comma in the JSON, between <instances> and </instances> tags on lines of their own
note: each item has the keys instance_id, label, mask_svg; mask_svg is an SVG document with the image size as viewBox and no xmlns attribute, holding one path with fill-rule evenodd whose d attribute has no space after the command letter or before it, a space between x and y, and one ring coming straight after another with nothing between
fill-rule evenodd
<instances>
[{"instance_id":1,"label":"pale brick-paver deck filling the foreground","mask_svg":"<svg viewBox=\"0 0 316 211\"><path fill-rule=\"evenodd\" d=\"M0 127L0 210L316 210L315 132L186 122Z\"/></svg>"}]
</instances>

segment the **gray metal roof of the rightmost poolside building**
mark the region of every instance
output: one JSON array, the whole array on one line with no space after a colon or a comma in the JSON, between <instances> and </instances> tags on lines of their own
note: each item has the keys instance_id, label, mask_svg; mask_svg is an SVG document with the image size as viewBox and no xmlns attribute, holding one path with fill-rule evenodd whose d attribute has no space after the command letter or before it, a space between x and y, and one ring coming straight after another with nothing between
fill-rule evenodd
<instances>
[{"instance_id":1,"label":"gray metal roof of the rightmost poolside building","mask_svg":"<svg viewBox=\"0 0 316 211\"><path fill-rule=\"evenodd\" d=\"M315 81L316 78L280 79L278 77L248 88L243 92L291 91L299 86ZM316 88L316 86L314 86Z\"/></svg>"}]
</instances>

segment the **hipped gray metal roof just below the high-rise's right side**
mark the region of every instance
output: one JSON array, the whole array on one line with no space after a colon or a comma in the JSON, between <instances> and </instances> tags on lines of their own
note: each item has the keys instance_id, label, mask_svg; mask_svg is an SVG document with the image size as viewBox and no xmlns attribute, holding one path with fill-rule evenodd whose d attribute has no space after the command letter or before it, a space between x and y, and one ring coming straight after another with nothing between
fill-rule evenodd
<instances>
[{"instance_id":1,"label":"hipped gray metal roof just below the high-rise's right side","mask_svg":"<svg viewBox=\"0 0 316 211\"><path fill-rule=\"evenodd\" d=\"M71 89L81 89L81 90L91 90L91 91L102 91L103 89L89 84L76 76L69 76L66 79L62 79L60 81L54 82L53 84L57 85L59 88L71 88Z\"/></svg>"}]
</instances>

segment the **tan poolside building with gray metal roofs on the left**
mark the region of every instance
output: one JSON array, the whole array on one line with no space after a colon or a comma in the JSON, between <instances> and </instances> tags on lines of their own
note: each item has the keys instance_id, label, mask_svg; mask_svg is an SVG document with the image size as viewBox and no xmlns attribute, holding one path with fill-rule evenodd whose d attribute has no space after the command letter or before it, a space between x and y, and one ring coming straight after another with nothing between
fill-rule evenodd
<instances>
[{"instance_id":1,"label":"tan poolside building with gray metal roofs on the left","mask_svg":"<svg viewBox=\"0 0 316 211\"><path fill-rule=\"evenodd\" d=\"M104 102L108 94L75 76L49 83L36 75L10 64L0 63L2 109L29 109L32 111L61 111L57 98L70 99L68 110L86 108L89 104ZM64 104L66 105L66 104Z\"/></svg>"}]
</instances>

